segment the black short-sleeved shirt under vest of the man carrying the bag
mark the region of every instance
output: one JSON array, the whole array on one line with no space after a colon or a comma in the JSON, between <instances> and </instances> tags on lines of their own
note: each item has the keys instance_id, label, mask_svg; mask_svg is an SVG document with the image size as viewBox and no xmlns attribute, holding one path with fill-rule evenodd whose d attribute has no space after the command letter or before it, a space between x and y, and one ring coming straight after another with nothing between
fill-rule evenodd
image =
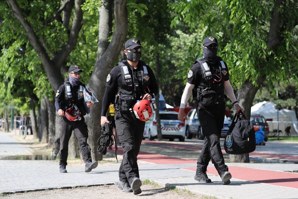
<instances>
[{"instance_id":1,"label":"black short-sleeved shirt under vest of the man carrying the bag","mask_svg":"<svg viewBox=\"0 0 298 199\"><path fill-rule=\"evenodd\" d=\"M221 65L219 60L215 64L208 64L208 66L210 67L210 71L212 72L212 74L216 73L219 77L222 78L222 81L227 81L229 80L229 70L227 64L225 62L224 64L225 68L222 68L221 71L219 70L219 66ZM203 75L201 64L196 62L194 63L194 65L192 65L190 71L187 74L187 82L198 87L202 82L202 78Z\"/></svg>"}]
</instances>

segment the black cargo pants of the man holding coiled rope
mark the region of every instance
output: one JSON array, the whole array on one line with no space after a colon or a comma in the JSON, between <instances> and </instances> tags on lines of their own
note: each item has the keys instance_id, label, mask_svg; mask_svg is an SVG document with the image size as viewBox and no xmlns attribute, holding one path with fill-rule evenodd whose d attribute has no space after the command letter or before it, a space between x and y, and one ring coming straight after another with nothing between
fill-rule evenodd
<instances>
[{"instance_id":1,"label":"black cargo pants of the man holding coiled rope","mask_svg":"<svg viewBox=\"0 0 298 199\"><path fill-rule=\"evenodd\" d=\"M136 119L130 112L115 111L117 136L123 148L123 160L119 168L119 181L131 184L139 178L137 156L140 152L145 122Z\"/></svg>"}]
</instances>

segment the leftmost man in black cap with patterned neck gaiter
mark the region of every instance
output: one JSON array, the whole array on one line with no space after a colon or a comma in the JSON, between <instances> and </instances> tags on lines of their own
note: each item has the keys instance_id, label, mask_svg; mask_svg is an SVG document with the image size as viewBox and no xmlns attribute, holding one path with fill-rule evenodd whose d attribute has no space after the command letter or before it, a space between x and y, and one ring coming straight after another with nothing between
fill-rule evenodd
<instances>
[{"instance_id":1,"label":"leftmost man in black cap with patterned neck gaiter","mask_svg":"<svg viewBox=\"0 0 298 199\"><path fill-rule=\"evenodd\" d=\"M85 172L90 172L96 168L97 161L91 160L91 150L87 143L88 129L85 123L83 89L86 85L80 82L81 72L77 65L69 67L69 81L64 82L57 90L55 97L55 107L58 115L61 116L60 129L60 151L59 151L59 168L60 173L67 173L68 142L72 131L78 138L80 150L85 162ZM86 103L87 107L92 107L93 103Z\"/></svg>"}]
</instances>

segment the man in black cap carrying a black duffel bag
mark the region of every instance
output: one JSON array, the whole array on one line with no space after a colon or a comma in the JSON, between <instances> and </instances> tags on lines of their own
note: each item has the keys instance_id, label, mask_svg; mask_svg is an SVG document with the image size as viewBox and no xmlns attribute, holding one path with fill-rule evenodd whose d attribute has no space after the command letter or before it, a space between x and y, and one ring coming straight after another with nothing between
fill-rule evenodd
<instances>
[{"instance_id":1,"label":"man in black cap carrying a black duffel bag","mask_svg":"<svg viewBox=\"0 0 298 199\"><path fill-rule=\"evenodd\" d=\"M205 136L194 179L205 183L211 182L206 174L211 160L222 178L222 183L227 185L232 176L225 165L219 143L225 118L225 94L233 102L237 113L243 109L238 104L230 84L227 64L217 56L217 39L214 36L205 37L202 48L203 57L198 58L188 72L178 119L183 123L187 119L184 108L193 91L202 134Z\"/></svg>"}]
</instances>

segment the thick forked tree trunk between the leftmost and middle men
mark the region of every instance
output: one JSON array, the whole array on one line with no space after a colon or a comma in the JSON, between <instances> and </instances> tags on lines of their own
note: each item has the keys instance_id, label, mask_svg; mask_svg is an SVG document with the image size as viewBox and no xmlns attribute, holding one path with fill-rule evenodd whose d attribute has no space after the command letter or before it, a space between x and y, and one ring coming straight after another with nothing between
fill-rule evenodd
<instances>
[{"instance_id":1,"label":"thick forked tree trunk between the leftmost and middle men","mask_svg":"<svg viewBox=\"0 0 298 199\"><path fill-rule=\"evenodd\" d=\"M102 25L112 24L112 2L114 2L115 30L111 42L108 43L110 32L106 31L106 29L112 29L112 26L105 26L102 28ZM126 0L103 0L102 3L103 4L99 10L100 21L97 59L94 66L94 71L88 83L88 88L94 92L99 101L92 107L89 117L86 117L86 122L89 129L88 144L91 148L92 160L102 160L102 155L97 151L97 140L101 135L100 115L102 109L102 99L105 92L107 75L114 67L115 61L118 57L118 53L115 52L120 52L123 47L127 34L128 23Z\"/></svg>"}]
</instances>

